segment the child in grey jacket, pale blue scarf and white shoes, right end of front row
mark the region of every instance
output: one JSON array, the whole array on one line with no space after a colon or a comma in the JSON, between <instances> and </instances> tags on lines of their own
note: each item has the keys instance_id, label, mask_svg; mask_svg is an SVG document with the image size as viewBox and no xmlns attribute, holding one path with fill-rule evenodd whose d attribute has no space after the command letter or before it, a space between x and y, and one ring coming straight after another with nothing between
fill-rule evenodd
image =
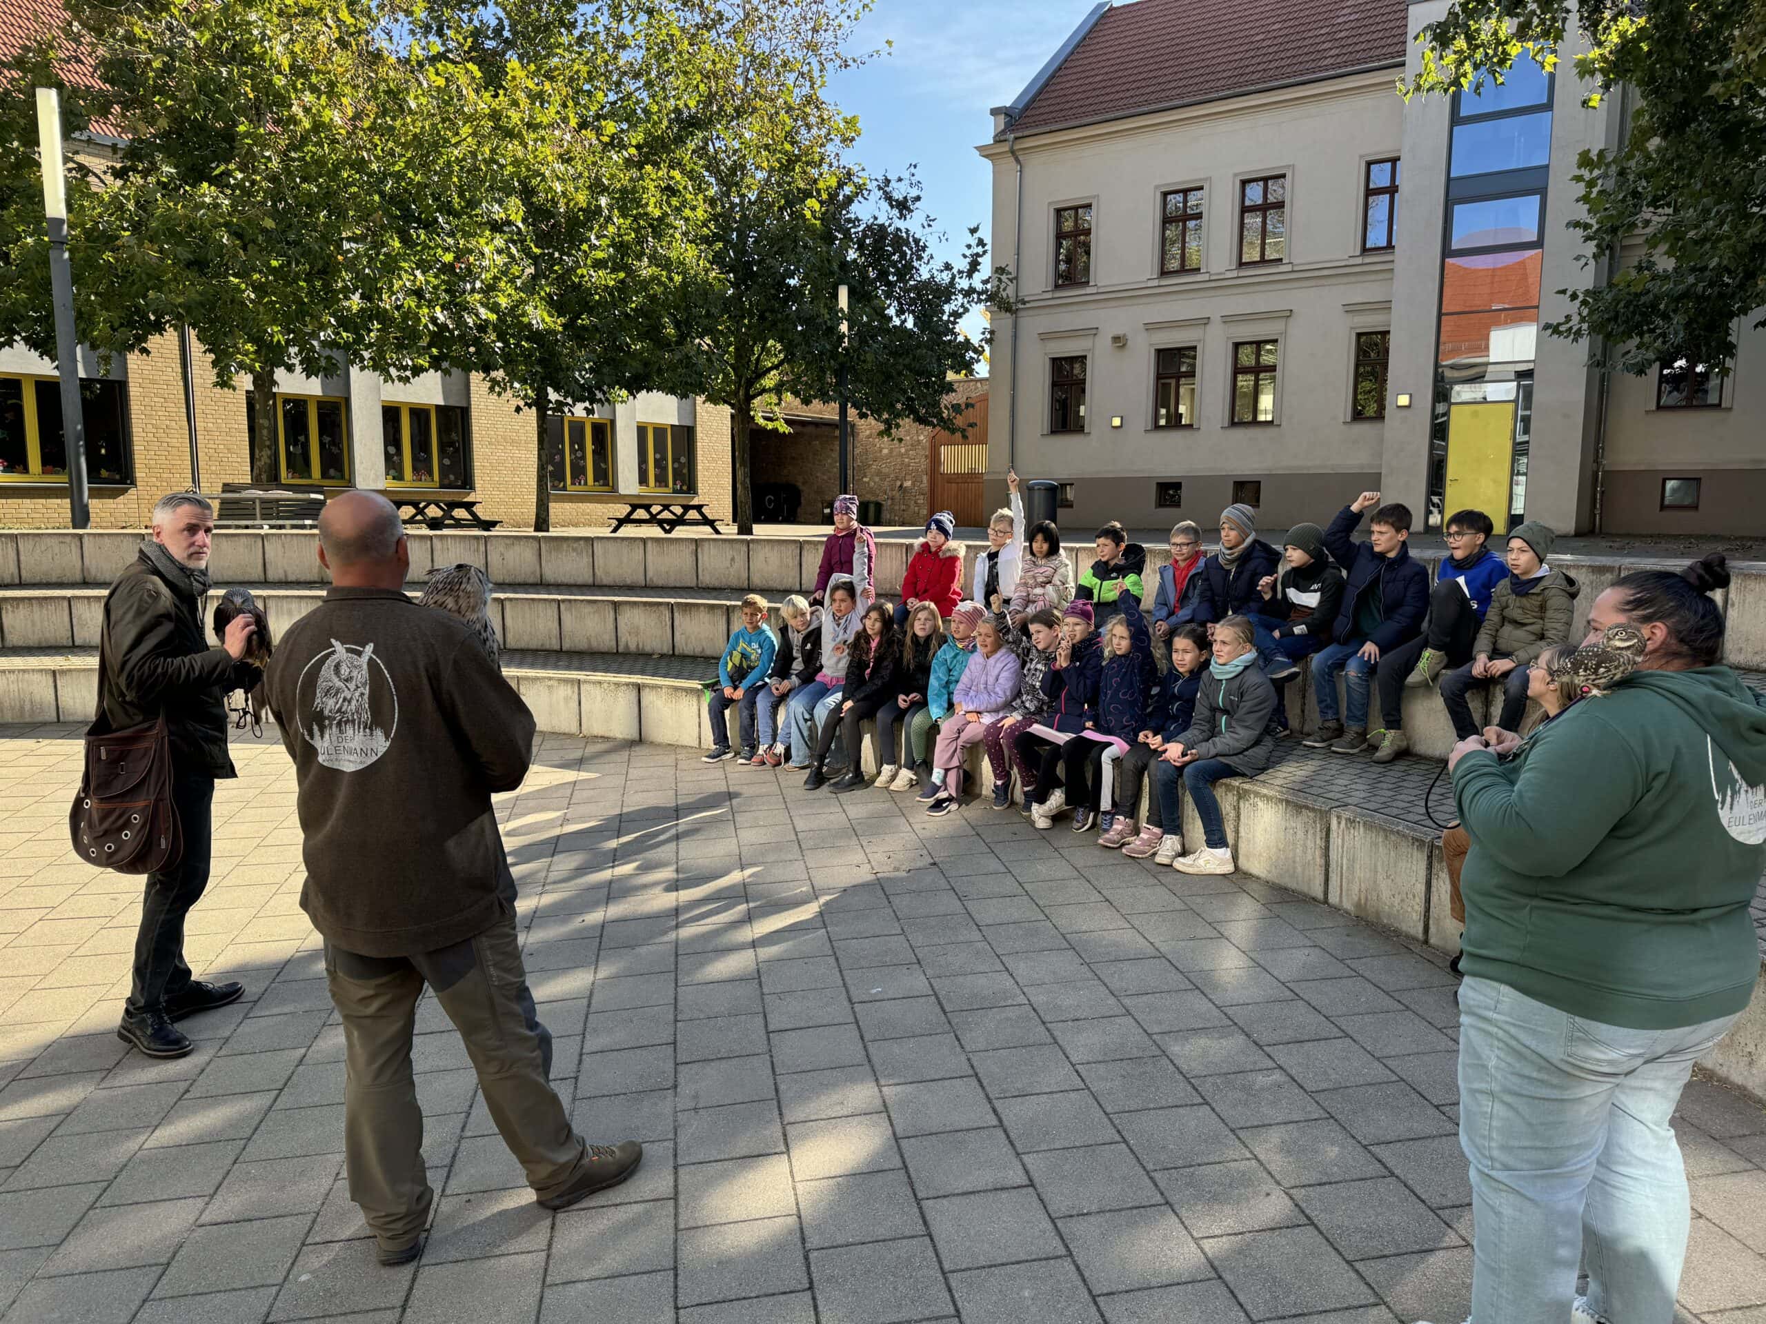
<instances>
[{"instance_id":1,"label":"child in grey jacket, pale blue scarf and white shoes, right end of front row","mask_svg":"<svg viewBox=\"0 0 1766 1324\"><path fill-rule=\"evenodd\" d=\"M1153 768L1160 812L1171 830L1180 831L1183 823L1180 782L1203 821L1204 844L1171 861L1178 872L1233 872L1233 851L1227 849L1213 784L1226 777L1256 777L1270 766L1273 711L1275 687L1257 667L1256 627L1245 616L1227 616L1215 627L1213 662L1196 694L1190 729L1166 745Z\"/></svg>"}]
</instances>

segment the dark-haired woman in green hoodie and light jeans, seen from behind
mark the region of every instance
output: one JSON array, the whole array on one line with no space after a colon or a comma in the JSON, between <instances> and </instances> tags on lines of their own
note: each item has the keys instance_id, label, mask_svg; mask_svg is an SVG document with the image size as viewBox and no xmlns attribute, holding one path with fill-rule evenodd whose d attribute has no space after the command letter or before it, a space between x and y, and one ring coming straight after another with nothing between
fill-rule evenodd
<instances>
[{"instance_id":1,"label":"dark-haired woman in green hoodie and light jeans, seen from behind","mask_svg":"<svg viewBox=\"0 0 1766 1324\"><path fill-rule=\"evenodd\" d=\"M1727 583L1720 554L1623 575L1589 643L1630 625L1641 655L1584 646L1566 666L1589 697L1524 747L1491 729L1453 749L1476 1324L1674 1317L1688 1202L1669 1117L1761 967L1766 710L1717 662Z\"/></svg>"}]
</instances>

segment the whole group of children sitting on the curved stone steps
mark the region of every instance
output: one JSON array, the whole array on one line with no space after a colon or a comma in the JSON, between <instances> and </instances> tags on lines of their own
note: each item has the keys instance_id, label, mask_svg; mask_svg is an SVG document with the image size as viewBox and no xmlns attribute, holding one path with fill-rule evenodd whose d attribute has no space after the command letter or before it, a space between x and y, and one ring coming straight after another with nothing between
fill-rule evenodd
<instances>
[{"instance_id":1,"label":"whole group of children sitting on the curved stone steps","mask_svg":"<svg viewBox=\"0 0 1766 1324\"><path fill-rule=\"evenodd\" d=\"M742 600L708 696L713 747L706 763L740 757L754 768L789 763L805 789L841 794L867 784L918 791L927 814L961 803L964 759L980 745L992 770L992 807L1012 807L1040 830L1070 814L1072 831L1097 828L1098 846L1171 863L1187 874L1227 874L1215 782L1270 766L1287 734L1284 687L1312 667L1319 724L1303 743L1390 763L1408 749L1402 692L1439 685L1460 738L1476 734L1468 690L1503 681L1499 726L1517 729L1528 666L1568 641L1577 584L1552 570L1552 533L1515 528L1505 556L1487 544L1489 515L1446 523L1448 556L1434 586L1409 554L1411 512L1362 493L1328 528L1298 524L1280 551L1257 538L1256 512L1220 514L1220 547L1203 554L1194 523L1171 531L1153 607L1141 606L1146 551L1121 524L1098 530L1093 561L1074 584L1056 526L1024 528L1019 480L989 521L971 597L961 590L964 547L955 521L927 521L902 579L901 602L876 597L876 544L858 503L841 496L811 598ZM1351 535L1374 510L1370 537ZM1157 660L1155 660L1157 658ZM1346 678L1346 711L1337 673ZM1369 729L1370 690L1381 726ZM728 710L740 718L731 749ZM860 770L860 724L871 720L878 777ZM934 738L936 733L936 738ZM844 768L832 768L835 738ZM1137 821L1151 777L1148 812ZM1183 853L1189 793L1203 844Z\"/></svg>"}]
</instances>

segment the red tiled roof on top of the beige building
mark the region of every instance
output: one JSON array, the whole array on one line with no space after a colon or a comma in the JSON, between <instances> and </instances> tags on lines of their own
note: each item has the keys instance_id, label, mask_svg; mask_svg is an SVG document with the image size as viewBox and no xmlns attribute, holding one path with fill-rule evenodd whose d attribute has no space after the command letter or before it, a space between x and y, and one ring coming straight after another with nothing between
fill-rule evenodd
<instances>
[{"instance_id":1,"label":"red tiled roof on top of the beige building","mask_svg":"<svg viewBox=\"0 0 1766 1324\"><path fill-rule=\"evenodd\" d=\"M1060 129L1404 64L1406 0L1136 0L1098 16L1019 117Z\"/></svg>"}]
</instances>

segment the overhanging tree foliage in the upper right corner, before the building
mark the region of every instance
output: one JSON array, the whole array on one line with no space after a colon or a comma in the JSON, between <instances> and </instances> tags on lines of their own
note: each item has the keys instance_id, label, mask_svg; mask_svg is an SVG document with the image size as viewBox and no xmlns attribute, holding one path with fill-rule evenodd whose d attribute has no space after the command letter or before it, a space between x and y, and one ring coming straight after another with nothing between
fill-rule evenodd
<instances>
[{"instance_id":1,"label":"overhanging tree foliage in the upper right corner, before the building","mask_svg":"<svg viewBox=\"0 0 1766 1324\"><path fill-rule=\"evenodd\" d=\"M1586 101L1616 95L1626 124L1577 162L1572 228L1611 274L1547 330L1625 372L1729 362L1738 321L1766 325L1766 2L1457 0L1406 92L1499 78L1521 51L1549 69L1577 37Z\"/></svg>"}]
</instances>

